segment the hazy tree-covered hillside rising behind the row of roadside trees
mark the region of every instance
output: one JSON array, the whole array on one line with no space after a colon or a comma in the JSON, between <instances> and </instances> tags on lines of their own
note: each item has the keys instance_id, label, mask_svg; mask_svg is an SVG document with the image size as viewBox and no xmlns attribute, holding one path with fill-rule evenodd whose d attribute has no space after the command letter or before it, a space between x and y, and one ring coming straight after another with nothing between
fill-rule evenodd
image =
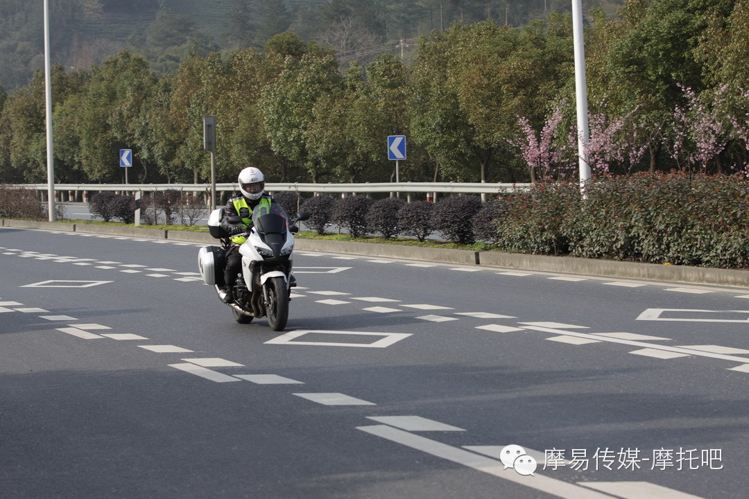
<instances>
[{"instance_id":1,"label":"hazy tree-covered hillside rising behind the row of roadside trees","mask_svg":"<svg viewBox=\"0 0 749 499\"><path fill-rule=\"evenodd\" d=\"M622 3L585 0L583 8L612 14ZM417 37L456 21L519 26L570 6L569 0L51 0L50 55L67 69L88 70L127 48L157 73L169 73L191 50L262 49L288 30L333 46L348 64L410 53ZM28 84L43 60L43 2L0 0L0 87L10 92Z\"/></svg>"}]
</instances>

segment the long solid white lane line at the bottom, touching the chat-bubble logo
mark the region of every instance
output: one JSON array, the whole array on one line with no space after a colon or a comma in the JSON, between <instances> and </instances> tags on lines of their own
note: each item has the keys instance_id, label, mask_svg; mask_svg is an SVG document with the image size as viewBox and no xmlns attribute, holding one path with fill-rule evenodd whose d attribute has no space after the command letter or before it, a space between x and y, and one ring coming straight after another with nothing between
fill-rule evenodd
<instances>
[{"instance_id":1,"label":"long solid white lane line at the bottom, touching the chat-bubble logo","mask_svg":"<svg viewBox=\"0 0 749 499\"><path fill-rule=\"evenodd\" d=\"M533 477L524 477L512 468L504 469L505 467L502 462L497 461L497 459L491 459L468 450L452 447L451 445L443 444L430 438L422 437L421 435L413 435L413 433L393 428L392 426L357 426L357 429L370 435L393 441L396 444L420 450L431 456L437 456L441 459L491 474L494 477L556 495L562 499L611 499L610 495L603 495L599 492L574 485L573 483L545 477L539 473L534 474Z\"/></svg>"}]
</instances>

